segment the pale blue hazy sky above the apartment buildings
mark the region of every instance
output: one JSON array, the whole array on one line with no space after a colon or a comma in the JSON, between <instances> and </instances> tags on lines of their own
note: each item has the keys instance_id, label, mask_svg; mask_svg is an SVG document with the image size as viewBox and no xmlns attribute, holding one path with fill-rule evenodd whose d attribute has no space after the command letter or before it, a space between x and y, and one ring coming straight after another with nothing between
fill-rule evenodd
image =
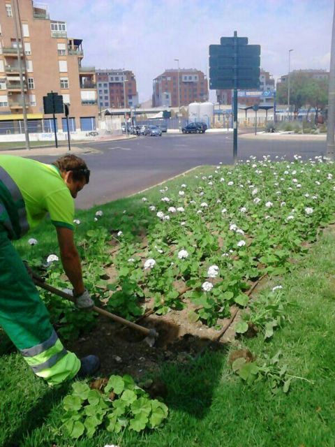
<instances>
[{"instance_id":1,"label":"pale blue hazy sky above the apartment buildings","mask_svg":"<svg viewBox=\"0 0 335 447\"><path fill-rule=\"evenodd\" d=\"M38 2L36 2L38 3ZM43 0L52 20L83 39L82 65L133 71L140 102L166 68L208 73L209 45L221 36L261 45L275 79L291 70L329 70L334 0ZM211 91L214 100L215 92Z\"/></svg>"}]
</instances>

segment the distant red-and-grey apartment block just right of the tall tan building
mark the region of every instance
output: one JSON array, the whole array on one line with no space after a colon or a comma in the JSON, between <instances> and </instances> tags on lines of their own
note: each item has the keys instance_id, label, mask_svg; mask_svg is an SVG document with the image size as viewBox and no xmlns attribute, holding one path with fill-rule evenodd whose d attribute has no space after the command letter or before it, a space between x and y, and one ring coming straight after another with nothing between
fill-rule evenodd
<instances>
[{"instance_id":1,"label":"distant red-and-grey apartment block just right of the tall tan building","mask_svg":"<svg viewBox=\"0 0 335 447\"><path fill-rule=\"evenodd\" d=\"M103 108L137 107L136 78L130 70L96 70L98 105Z\"/></svg>"}]
</instances>

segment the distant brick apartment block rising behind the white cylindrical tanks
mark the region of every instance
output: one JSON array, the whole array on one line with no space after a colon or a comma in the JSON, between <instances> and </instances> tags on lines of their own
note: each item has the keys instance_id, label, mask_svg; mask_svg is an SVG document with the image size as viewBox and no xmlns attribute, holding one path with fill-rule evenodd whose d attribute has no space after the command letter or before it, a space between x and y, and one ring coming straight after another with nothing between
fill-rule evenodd
<instances>
[{"instance_id":1,"label":"distant brick apartment block rising behind the white cylindrical tanks","mask_svg":"<svg viewBox=\"0 0 335 447\"><path fill-rule=\"evenodd\" d=\"M208 101L208 82L202 71L195 68L171 68L154 79L152 105L178 107Z\"/></svg>"}]
</instances>

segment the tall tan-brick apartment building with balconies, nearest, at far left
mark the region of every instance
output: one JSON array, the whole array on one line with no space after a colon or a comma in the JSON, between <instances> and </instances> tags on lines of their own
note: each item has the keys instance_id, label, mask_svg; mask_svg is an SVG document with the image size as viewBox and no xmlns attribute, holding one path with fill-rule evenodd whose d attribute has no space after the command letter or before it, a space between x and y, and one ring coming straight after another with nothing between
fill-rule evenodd
<instances>
[{"instance_id":1,"label":"tall tan-brick apartment building with balconies, nearest, at far left","mask_svg":"<svg viewBox=\"0 0 335 447\"><path fill-rule=\"evenodd\" d=\"M18 44L14 1L22 29ZM82 39L69 38L66 22L50 20L43 3L0 0L0 133L17 133L22 128L17 45L24 73L29 131L52 131L52 115L43 113L43 96L50 91L57 91L69 105L70 131L96 129L96 73L93 66L82 65ZM64 115L56 116L57 129L66 131Z\"/></svg>"}]
</instances>

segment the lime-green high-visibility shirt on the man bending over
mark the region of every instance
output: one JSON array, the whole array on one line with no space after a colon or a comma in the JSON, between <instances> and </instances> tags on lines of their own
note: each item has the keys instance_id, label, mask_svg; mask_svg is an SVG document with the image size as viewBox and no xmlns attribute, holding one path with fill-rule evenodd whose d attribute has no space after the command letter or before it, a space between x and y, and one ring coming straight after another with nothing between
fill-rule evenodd
<instances>
[{"instance_id":1,"label":"lime-green high-visibility shirt on the man bending over","mask_svg":"<svg viewBox=\"0 0 335 447\"><path fill-rule=\"evenodd\" d=\"M75 205L56 166L0 155L0 223L19 239L44 219L73 229Z\"/></svg>"}]
</instances>

